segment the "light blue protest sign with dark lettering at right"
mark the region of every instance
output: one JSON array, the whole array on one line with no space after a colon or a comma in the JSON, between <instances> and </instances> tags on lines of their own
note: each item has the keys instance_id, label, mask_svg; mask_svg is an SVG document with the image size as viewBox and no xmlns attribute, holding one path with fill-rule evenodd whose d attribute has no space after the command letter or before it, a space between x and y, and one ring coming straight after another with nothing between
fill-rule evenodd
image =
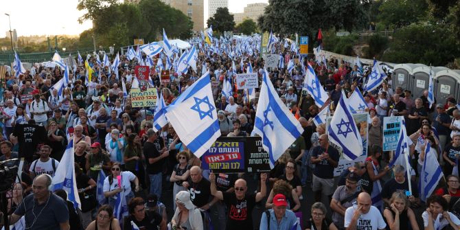
<instances>
[{"instance_id":1,"label":"light blue protest sign with dark lettering at right","mask_svg":"<svg viewBox=\"0 0 460 230\"><path fill-rule=\"evenodd\" d=\"M400 137L402 116L383 117L383 150L396 150Z\"/></svg>"}]
</instances>

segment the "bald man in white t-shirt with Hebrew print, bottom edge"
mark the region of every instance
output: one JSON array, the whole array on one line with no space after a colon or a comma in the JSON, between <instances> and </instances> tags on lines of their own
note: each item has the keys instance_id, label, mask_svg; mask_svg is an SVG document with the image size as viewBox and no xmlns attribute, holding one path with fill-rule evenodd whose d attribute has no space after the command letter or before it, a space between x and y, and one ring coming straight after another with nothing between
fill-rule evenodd
<instances>
[{"instance_id":1,"label":"bald man in white t-shirt with Hebrew print, bottom edge","mask_svg":"<svg viewBox=\"0 0 460 230\"><path fill-rule=\"evenodd\" d=\"M345 229L347 230L373 230L385 229L385 224L380 211L372 206L371 196L361 192L356 198L356 205L345 211Z\"/></svg>"}]
</instances>

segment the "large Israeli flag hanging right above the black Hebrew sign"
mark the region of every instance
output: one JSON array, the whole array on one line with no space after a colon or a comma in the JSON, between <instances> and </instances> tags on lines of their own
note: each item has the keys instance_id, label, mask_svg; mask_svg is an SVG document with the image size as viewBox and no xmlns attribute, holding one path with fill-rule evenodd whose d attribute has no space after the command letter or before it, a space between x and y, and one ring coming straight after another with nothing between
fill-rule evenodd
<instances>
[{"instance_id":1,"label":"large Israeli flag hanging right above the black Hebrew sign","mask_svg":"<svg viewBox=\"0 0 460 230\"><path fill-rule=\"evenodd\" d=\"M262 137L264 150L269 154L270 167L284 154L284 151L299 137L303 128L286 105L281 102L277 91L264 69L259 104L255 113L255 124L251 136Z\"/></svg>"}]
</instances>

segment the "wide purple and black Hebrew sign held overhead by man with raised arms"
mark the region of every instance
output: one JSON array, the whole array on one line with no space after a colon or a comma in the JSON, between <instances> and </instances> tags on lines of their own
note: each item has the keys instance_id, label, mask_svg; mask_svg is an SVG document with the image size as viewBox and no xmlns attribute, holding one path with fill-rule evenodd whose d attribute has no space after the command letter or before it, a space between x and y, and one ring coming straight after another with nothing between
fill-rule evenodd
<instances>
[{"instance_id":1,"label":"wide purple and black Hebrew sign held overhead by man with raised arms","mask_svg":"<svg viewBox=\"0 0 460 230\"><path fill-rule=\"evenodd\" d=\"M213 172L270 171L268 153L262 148L260 137L219 137L201 161L203 169Z\"/></svg>"}]
</instances>

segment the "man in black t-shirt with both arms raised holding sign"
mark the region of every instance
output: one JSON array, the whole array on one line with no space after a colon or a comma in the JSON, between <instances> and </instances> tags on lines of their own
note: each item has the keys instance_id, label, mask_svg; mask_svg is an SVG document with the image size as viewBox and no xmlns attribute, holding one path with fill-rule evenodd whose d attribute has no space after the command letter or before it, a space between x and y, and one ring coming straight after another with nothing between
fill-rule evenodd
<instances>
[{"instance_id":1,"label":"man in black t-shirt with both arms raised holding sign","mask_svg":"<svg viewBox=\"0 0 460 230\"><path fill-rule=\"evenodd\" d=\"M253 208L255 203L262 200L266 195L266 179L267 174L260 175L260 192L257 194L246 194L247 187L244 179L235 181L235 192L222 192L216 188L216 175L209 174L209 181L211 181L211 194L223 200L227 205L229 212L226 230L252 230L253 229Z\"/></svg>"}]
</instances>

